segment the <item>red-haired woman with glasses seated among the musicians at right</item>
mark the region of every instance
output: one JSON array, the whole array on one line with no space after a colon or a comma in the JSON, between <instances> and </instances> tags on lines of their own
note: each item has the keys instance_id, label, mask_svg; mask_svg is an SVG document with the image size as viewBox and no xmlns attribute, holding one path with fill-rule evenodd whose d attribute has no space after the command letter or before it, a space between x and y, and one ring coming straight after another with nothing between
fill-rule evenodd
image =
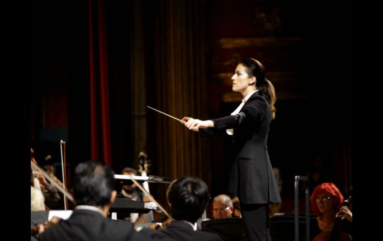
<instances>
[{"instance_id":1,"label":"red-haired woman with glasses seated among the musicians at right","mask_svg":"<svg viewBox=\"0 0 383 241\"><path fill-rule=\"evenodd\" d=\"M334 224L343 199L342 193L332 182L322 183L312 191L310 208L311 212L318 216L318 228L322 231L314 241L328 240L333 229L339 230L339 227L334 228ZM346 240L350 237L343 232L340 235Z\"/></svg>"}]
</instances>

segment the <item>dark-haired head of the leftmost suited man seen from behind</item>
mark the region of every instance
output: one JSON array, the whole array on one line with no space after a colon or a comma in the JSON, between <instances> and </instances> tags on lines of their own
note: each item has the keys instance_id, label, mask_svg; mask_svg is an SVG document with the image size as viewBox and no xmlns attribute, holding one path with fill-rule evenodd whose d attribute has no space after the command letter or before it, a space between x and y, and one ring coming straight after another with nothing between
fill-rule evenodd
<instances>
[{"instance_id":1,"label":"dark-haired head of the leftmost suited man seen from behind","mask_svg":"<svg viewBox=\"0 0 383 241\"><path fill-rule=\"evenodd\" d=\"M114 201L114 171L96 161L81 162L75 169L77 205L104 207Z\"/></svg>"}]
</instances>

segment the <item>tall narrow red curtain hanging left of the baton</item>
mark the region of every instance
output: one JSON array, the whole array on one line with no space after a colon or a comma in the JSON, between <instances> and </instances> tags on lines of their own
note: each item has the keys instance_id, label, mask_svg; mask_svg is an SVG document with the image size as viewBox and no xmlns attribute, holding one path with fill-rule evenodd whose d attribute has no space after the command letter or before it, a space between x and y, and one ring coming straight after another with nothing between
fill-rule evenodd
<instances>
[{"instance_id":1,"label":"tall narrow red curtain hanging left of the baton","mask_svg":"<svg viewBox=\"0 0 383 241\"><path fill-rule=\"evenodd\" d=\"M111 166L108 64L104 0L89 0L91 157Z\"/></svg>"}]
</instances>

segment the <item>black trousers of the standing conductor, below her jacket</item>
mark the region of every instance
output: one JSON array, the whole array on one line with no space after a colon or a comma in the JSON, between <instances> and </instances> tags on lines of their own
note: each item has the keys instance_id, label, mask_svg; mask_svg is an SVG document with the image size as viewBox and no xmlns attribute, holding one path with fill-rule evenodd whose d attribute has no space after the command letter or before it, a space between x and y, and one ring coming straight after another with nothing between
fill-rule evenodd
<instances>
[{"instance_id":1,"label":"black trousers of the standing conductor, below her jacket","mask_svg":"<svg viewBox=\"0 0 383 241\"><path fill-rule=\"evenodd\" d=\"M248 241L271 241L269 204L241 204Z\"/></svg>"}]
</instances>

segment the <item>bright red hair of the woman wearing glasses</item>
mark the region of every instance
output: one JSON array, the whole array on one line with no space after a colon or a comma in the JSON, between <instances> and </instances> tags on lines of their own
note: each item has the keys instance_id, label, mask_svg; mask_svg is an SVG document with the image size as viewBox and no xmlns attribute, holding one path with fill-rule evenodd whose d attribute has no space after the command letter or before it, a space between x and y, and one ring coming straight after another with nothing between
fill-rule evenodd
<instances>
[{"instance_id":1,"label":"bright red hair of the woman wearing glasses","mask_svg":"<svg viewBox=\"0 0 383 241\"><path fill-rule=\"evenodd\" d=\"M315 198L322 193L331 195L333 198L335 198L337 210L342 206L344 197L334 183L325 182L325 183L319 184L317 187L315 187L315 189L312 191L312 194L310 196L311 212L313 212L317 216L320 216L321 213L318 210L318 206L316 205Z\"/></svg>"}]
</instances>

